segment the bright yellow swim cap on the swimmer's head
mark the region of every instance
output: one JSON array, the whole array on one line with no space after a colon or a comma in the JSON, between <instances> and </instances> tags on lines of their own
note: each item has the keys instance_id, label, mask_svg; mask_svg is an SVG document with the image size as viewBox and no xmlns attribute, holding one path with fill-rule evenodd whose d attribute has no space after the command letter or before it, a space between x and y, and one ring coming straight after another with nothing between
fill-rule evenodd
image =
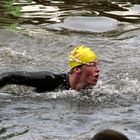
<instances>
[{"instance_id":1,"label":"bright yellow swim cap on the swimmer's head","mask_svg":"<svg viewBox=\"0 0 140 140\"><path fill-rule=\"evenodd\" d=\"M87 46L77 46L69 55L71 68L96 60L96 54Z\"/></svg>"}]
</instances>

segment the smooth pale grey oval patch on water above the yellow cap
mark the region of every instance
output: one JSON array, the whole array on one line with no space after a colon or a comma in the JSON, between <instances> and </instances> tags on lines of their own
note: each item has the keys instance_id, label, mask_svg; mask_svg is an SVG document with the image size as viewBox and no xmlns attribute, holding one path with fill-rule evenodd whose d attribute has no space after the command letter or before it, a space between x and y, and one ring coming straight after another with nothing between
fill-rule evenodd
<instances>
[{"instance_id":1,"label":"smooth pale grey oval patch on water above the yellow cap","mask_svg":"<svg viewBox=\"0 0 140 140\"><path fill-rule=\"evenodd\" d=\"M99 33L117 29L119 22L107 17L68 17L60 24L51 24L48 29L53 30L70 30L73 32Z\"/></svg>"}]
</instances>

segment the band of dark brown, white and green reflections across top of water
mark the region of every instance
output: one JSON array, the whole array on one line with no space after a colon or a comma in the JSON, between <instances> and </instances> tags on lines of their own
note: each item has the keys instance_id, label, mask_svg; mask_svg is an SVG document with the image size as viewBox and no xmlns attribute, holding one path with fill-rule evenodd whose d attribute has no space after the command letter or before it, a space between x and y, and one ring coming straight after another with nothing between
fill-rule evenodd
<instances>
[{"instance_id":1,"label":"band of dark brown, white and green reflections across top of water","mask_svg":"<svg viewBox=\"0 0 140 140\"><path fill-rule=\"evenodd\" d=\"M105 16L118 21L138 23L139 1L83 0L6 0L1 1L3 26L63 22L68 16Z\"/></svg>"}]
</instances>

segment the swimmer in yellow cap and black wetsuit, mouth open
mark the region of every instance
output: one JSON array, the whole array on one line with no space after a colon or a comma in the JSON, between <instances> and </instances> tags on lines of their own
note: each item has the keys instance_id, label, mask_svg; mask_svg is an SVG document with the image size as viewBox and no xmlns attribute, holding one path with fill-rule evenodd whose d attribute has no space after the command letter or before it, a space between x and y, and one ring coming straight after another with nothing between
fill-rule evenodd
<instances>
[{"instance_id":1,"label":"swimmer in yellow cap and black wetsuit, mouth open","mask_svg":"<svg viewBox=\"0 0 140 140\"><path fill-rule=\"evenodd\" d=\"M49 71L15 71L0 74L0 87L8 84L25 85L36 92L59 90L83 90L96 85L100 69L96 54L87 46L76 46L69 54L70 72L53 73Z\"/></svg>"}]
</instances>

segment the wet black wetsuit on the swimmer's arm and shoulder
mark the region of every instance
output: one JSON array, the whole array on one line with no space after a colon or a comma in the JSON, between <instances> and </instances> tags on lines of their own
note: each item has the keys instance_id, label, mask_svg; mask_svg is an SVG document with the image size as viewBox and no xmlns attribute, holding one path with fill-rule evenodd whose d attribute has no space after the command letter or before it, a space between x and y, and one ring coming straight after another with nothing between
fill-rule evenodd
<instances>
[{"instance_id":1,"label":"wet black wetsuit on the swimmer's arm and shoulder","mask_svg":"<svg viewBox=\"0 0 140 140\"><path fill-rule=\"evenodd\" d=\"M41 72L5 72L0 74L0 87L17 84L35 87L36 92L69 89L68 73L55 74L48 71Z\"/></svg>"}]
</instances>

